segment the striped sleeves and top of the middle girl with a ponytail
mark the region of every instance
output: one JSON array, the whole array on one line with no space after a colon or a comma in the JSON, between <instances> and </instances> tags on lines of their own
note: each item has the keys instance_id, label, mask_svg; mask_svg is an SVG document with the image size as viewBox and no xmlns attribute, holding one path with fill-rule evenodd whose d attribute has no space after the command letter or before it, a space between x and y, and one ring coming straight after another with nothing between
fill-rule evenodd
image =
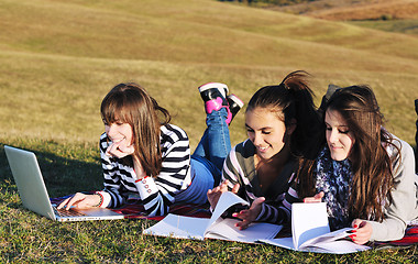
<instances>
[{"instance_id":1,"label":"striped sleeves and top of the middle girl with a ponytail","mask_svg":"<svg viewBox=\"0 0 418 264\"><path fill-rule=\"evenodd\" d=\"M229 189L240 184L238 195L250 204L258 197L265 197L256 221L280 224L289 219L290 212L284 208L283 200L293 182L297 163L292 158L268 189L263 191L255 169L255 151L250 140L235 145L223 164L222 180L230 182Z\"/></svg>"}]
</instances>

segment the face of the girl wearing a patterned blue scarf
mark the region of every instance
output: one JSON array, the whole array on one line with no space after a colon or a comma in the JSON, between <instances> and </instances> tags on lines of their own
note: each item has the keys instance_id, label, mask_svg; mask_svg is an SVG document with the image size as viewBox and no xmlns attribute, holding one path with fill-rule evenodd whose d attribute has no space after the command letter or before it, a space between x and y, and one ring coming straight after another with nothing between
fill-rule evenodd
<instances>
[{"instance_id":1,"label":"face of the girl wearing a patterned blue scarf","mask_svg":"<svg viewBox=\"0 0 418 264\"><path fill-rule=\"evenodd\" d=\"M327 143L334 161L350 158L351 150L355 143L353 133L346 125L345 120L338 111L327 110Z\"/></svg>"}]
</instances>

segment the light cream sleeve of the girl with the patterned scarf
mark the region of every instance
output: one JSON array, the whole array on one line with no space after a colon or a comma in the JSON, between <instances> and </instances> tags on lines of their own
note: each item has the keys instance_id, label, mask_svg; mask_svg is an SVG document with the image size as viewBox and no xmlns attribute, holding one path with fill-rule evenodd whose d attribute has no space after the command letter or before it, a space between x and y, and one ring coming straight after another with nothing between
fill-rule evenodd
<instances>
[{"instance_id":1,"label":"light cream sleeve of the girl with the patterned scarf","mask_svg":"<svg viewBox=\"0 0 418 264\"><path fill-rule=\"evenodd\" d=\"M395 143L397 140L395 140ZM407 222L417 217L415 158L413 147L400 141L400 158L394 163L393 202L385 208L382 222L367 221L372 224L370 241L398 240L405 235Z\"/></svg>"}]
</instances>

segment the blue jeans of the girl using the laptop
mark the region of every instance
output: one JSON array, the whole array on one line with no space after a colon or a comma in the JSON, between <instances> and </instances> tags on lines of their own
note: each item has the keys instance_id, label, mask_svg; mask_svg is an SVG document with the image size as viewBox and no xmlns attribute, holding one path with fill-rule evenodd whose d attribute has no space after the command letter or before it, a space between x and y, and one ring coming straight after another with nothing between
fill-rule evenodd
<instances>
[{"instance_id":1,"label":"blue jeans of the girl using the laptop","mask_svg":"<svg viewBox=\"0 0 418 264\"><path fill-rule=\"evenodd\" d=\"M231 151L224 108L207 114L207 129L190 161L191 185L176 196L178 202L205 204L207 193L221 180L223 162Z\"/></svg>"}]
</instances>

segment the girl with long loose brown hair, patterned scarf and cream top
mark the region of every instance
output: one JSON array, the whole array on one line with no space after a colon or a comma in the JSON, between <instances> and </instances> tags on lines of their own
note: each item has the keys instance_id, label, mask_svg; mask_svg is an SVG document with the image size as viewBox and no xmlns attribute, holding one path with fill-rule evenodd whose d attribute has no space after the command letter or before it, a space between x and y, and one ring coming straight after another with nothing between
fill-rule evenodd
<instances>
[{"instance_id":1,"label":"girl with long loose brown hair, patterned scarf and cream top","mask_svg":"<svg viewBox=\"0 0 418 264\"><path fill-rule=\"evenodd\" d=\"M366 86L338 89L324 110L319 155L304 162L286 200L327 202L331 229L354 228L358 244L403 238L418 217L413 148L384 129Z\"/></svg>"}]
</instances>

